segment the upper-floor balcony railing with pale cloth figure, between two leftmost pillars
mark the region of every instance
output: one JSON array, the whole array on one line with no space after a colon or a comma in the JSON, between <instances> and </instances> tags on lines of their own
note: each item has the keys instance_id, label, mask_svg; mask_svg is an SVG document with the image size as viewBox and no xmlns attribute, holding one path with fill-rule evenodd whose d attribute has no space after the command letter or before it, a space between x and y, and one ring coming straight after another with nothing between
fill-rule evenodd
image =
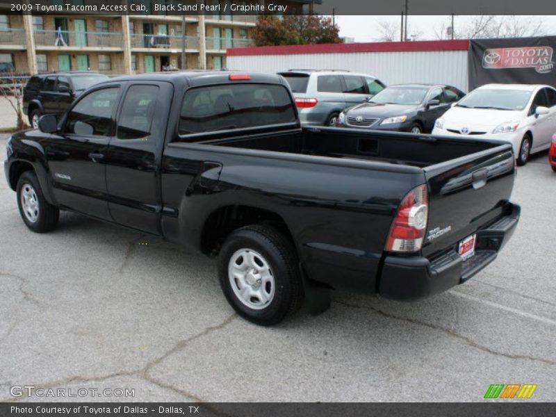
<instances>
[{"instance_id":1,"label":"upper-floor balcony railing with pale cloth figure, between two leftmost pillars","mask_svg":"<svg viewBox=\"0 0 556 417\"><path fill-rule=\"evenodd\" d=\"M58 31L35 31L36 46L122 48L123 42L123 33L62 31L60 37Z\"/></svg>"}]
</instances>

